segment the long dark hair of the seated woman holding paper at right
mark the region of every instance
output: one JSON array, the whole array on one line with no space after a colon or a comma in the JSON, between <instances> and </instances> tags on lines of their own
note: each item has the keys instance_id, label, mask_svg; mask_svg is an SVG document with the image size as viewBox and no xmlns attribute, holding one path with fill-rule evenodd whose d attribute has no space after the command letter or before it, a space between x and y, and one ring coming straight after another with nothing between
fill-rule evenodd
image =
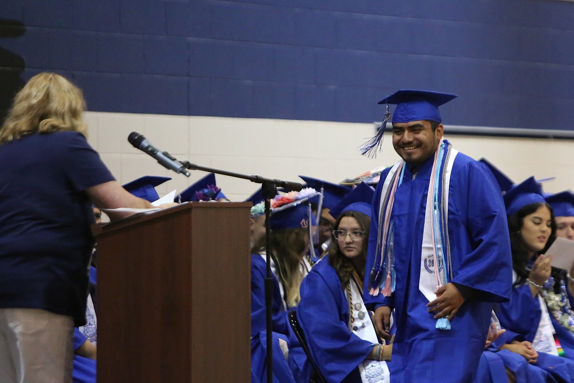
<instances>
[{"instance_id":1,"label":"long dark hair of the seated woman holding paper at right","mask_svg":"<svg viewBox=\"0 0 574 383\"><path fill-rule=\"evenodd\" d=\"M527 215L537 211L541 206L546 206L548 207L548 210L550 210L550 218L552 223L550 223L551 231L548 237L548 241L546 241L546 246L544 246L544 249L536 254L536 258L538 258L540 254L544 254L546 250L548 250L548 247L550 247L550 245L552 245L554 242L554 239L556 239L556 220L554 219L554 211L552 210L552 207L545 202L535 202L522 207L513 215L508 216L508 231L510 235L510 247L512 250L512 267L518 274L518 278L515 281L514 286L524 283L530 274L529 252L528 248L526 247L526 243L524 242L524 239L520 233L522 225L524 224L524 218Z\"/></svg>"}]
</instances>

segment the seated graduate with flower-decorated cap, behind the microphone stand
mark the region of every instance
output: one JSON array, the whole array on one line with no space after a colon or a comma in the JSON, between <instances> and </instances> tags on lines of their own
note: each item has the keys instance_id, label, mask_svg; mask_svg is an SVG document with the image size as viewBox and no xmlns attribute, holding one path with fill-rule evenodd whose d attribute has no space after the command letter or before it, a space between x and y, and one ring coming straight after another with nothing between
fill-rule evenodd
<instances>
[{"instance_id":1,"label":"seated graduate with flower-decorated cap, behind the microphone stand","mask_svg":"<svg viewBox=\"0 0 574 383\"><path fill-rule=\"evenodd\" d=\"M303 237L307 235L307 226L314 221L309 220L309 197L317 196L313 189L305 189L301 193L291 193L289 197L277 196L272 200L271 226L274 235L288 238L293 235L297 239L298 233ZM301 226L303 229L301 230ZM253 382L265 382L267 376L266 353L266 307L265 307L265 279L267 276L266 264L266 235L265 235L265 207L263 203L255 204L251 208L251 376ZM300 249L304 253L308 249L308 241L300 241ZM275 251L278 250L278 251ZM289 250L274 249L278 256L281 254L294 254ZM301 254L300 254L301 255ZM279 258L281 260L281 258ZM307 357L299 346L296 336L288 323L286 304L282 292L286 291L276 276L276 261L271 258L273 297L272 297L272 344L273 344L273 376L276 382L308 381L309 368ZM300 264L296 264L300 265ZM287 265L282 266L285 269ZM301 268L294 268L294 270ZM302 277L301 277L302 278ZM296 278L293 278L296 280ZM285 285L286 286L286 285ZM294 292L293 292L294 295ZM298 297L298 286L297 286Z\"/></svg>"}]
</instances>

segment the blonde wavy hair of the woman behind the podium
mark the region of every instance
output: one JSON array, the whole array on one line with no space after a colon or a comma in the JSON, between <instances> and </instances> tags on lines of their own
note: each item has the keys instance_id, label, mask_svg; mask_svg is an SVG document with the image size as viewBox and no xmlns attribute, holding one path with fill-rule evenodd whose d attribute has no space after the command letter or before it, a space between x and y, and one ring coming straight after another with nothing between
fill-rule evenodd
<instances>
[{"instance_id":1,"label":"blonde wavy hair of the woman behind the podium","mask_svg":"<svg viewBox=\"0 0 574 383\"><path fill-rule=\"evenodd\" d=\"M86 100L78 87L56 73L39 73L15 96L0 129L0 145L29 133L71 130L87 137L84 110Z\"/></svg>"}]
</instances>

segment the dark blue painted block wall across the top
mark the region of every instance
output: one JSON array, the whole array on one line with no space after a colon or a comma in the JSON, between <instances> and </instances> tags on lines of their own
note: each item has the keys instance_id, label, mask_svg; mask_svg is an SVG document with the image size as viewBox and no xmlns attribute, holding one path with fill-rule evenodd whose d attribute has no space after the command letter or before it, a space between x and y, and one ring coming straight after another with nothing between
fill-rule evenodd
<instances>
[{"instance_id":1,"label":"dark blue painted block wall across the top","mask_svg":"<svg viewBox=\"0 0 574 383\"><path fill-rule=\"evenodd\" d=\"M569 1L3 0L0 24L0 81L56 71L92 111L373 122L421 88L460 96L451 125L574 129Z\"/></svg>"}]
</instances>

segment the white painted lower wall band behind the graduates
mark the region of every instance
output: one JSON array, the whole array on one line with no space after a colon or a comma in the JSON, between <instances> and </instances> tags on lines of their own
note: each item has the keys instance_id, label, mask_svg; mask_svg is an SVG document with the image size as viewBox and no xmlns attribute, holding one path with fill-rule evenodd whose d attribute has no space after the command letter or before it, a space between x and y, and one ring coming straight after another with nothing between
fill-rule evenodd
<instances>
[{"instance_id":1,"label":"white painted lower wall band behind the graduates","mask_svg":"<svg viewBox=\"0 0 574 383\"><path fill-rule=\"evenodd\" d=\"M131 131L144 134L178 160L297 182L301 181L300 174L339 182L399 159L390 133L376 159L359 154L357 148L375 131L375 125L369 123L95 112L88 112L86 119L90 125L88 141L121 183L143 175L173 178L157 188L160 196L173 189L181 191L205 172L192 171L187 178L168 171L127 142ZM445 137L460 152L487 158L514 181L531 175L553 176L556 179L544 183L546 192L574 189L572 140L449 136L448 125ZM230 200L244 200L258 188L243 179L222 175L216 179Z\"/></svg>"}]
</instances>

